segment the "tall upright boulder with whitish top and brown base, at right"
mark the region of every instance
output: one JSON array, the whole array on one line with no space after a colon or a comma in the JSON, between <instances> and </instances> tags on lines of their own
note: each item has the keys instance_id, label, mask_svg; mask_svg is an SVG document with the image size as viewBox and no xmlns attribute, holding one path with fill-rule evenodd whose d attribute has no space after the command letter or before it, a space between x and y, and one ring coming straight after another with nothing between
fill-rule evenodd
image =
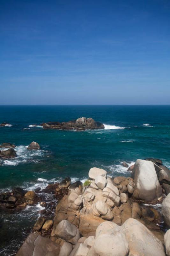
<instances>
[{"instance_id":1,"label":"tall upright boulder with whitish top and brown base, at right","mask_svg":"<svg viewBox=\"0 0 170 256\"><path fill-rule=\"evenodd\" d=\"M133 198L150 203L159 202L162 199L162 188L151 161L137 159L132 178L135 184Z\"/></svg>"}]
</instances>

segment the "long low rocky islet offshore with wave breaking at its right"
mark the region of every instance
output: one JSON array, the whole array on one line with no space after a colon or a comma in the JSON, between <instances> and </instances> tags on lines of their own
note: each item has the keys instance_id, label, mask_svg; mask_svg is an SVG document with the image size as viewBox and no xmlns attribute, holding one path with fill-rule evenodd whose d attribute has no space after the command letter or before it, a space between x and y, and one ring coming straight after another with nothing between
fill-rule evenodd
<instances>
[{"instance_id":1,"label":"long low rocky islet offshore with wave breaking at its right","mask_svg":"<svg viewBox=\"0 0 170 256\"><path fill-rule=\"evenodd\" d=\"M104 129L104 125L94 121L92 118L79 117L77 120L69 122L47 122L41 124L44 129L57 129L57 130L94 130Z\"/></svg>"}]
</instances>

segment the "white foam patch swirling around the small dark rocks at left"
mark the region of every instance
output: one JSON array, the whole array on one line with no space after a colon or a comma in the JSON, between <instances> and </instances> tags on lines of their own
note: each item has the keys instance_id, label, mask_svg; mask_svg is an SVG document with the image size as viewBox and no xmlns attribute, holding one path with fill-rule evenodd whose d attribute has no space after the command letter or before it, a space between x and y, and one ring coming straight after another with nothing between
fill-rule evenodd
<instances>
[{"instance_id":1,"label":"white foam patch swirling around the small dark rocks at left","mask_svg":"<svg viewBox=\"0 0 170 256\"><path fill-rule=\"evenodd\" d=\"M20 163L26 163L26 162L34 162L37 163L40 161L40 158L42 158L45 155L45 150L28 150L28 146L17 146L15 148L15 151L17 153L17 157L11 158L10 160L3 160L0 159L0 163L2 165L18 165Z\"/></svg>"}]
</instances>

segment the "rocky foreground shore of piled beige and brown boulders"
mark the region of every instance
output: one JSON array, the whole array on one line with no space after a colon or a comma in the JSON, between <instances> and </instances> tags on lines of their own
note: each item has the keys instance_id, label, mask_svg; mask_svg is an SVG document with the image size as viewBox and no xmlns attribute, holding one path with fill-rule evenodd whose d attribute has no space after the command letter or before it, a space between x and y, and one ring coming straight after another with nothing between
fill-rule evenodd
<instances>
[{"instance_id":1,"label":"rocky foreground shore of piled beige and brown boulders","mask_svg":"<svg viewBox=\"0 0 170 256\"><path fill-rule=\"evenodd\" d=\"M84 184L48 185L55 217L42 212L17 256L169 256L170 171L159 159L137 159L130 170L109 177L94 167Z\"/></svg>"}]
</instances>

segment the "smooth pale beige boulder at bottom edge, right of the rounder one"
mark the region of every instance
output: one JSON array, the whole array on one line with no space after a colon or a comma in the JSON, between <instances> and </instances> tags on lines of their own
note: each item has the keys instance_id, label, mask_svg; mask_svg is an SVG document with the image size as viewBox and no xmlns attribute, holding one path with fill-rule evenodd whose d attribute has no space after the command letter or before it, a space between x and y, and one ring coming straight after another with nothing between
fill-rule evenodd
<instances>
[{"instance_id":1,"label":"smooth pale beige boulder at bottom edge, right of the rounder one","mask_svg":"<svg viewBox=\"0 0 170 256\"><path fill-rule=\"evenodd\" d=\"M161 241L138 220L129 218L121 228L129 243L129 255L165 256Z\"/></svg>"}]
</instances>

